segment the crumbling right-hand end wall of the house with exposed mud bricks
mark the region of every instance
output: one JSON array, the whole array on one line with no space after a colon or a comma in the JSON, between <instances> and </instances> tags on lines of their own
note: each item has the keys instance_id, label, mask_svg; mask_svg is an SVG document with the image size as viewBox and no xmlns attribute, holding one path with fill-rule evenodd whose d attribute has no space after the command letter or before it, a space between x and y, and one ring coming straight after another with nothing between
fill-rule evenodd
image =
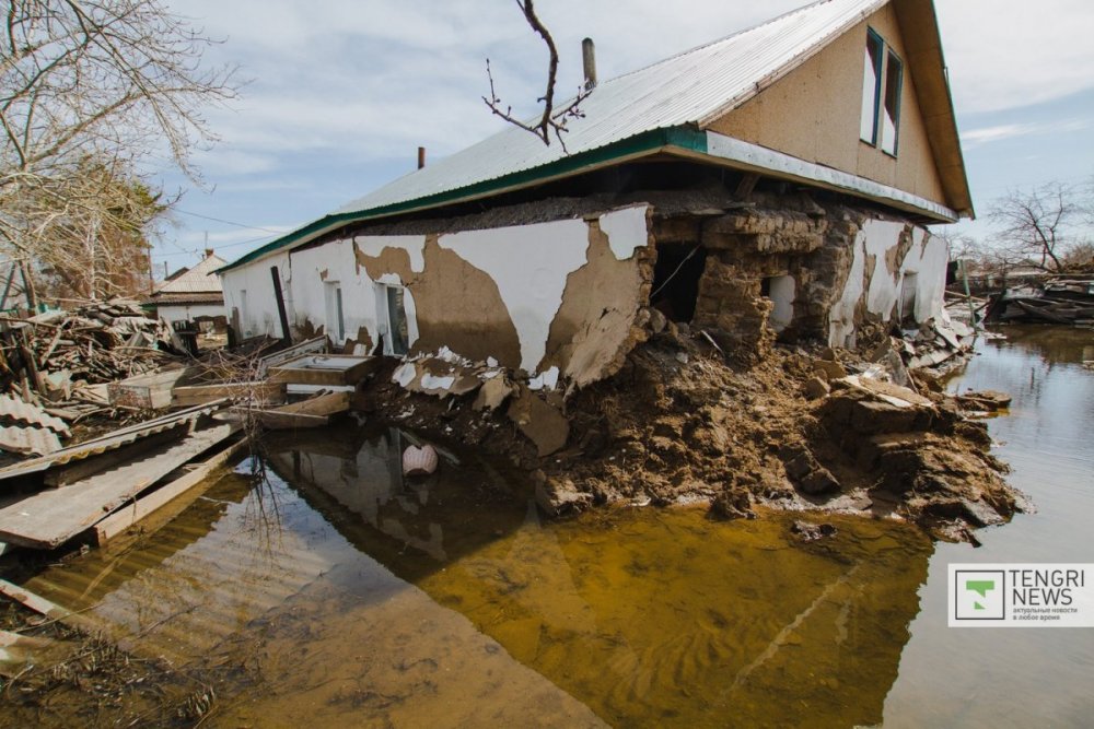
<instances>
[{"instance_id":1,"label":"crumbling right-hand end wall of the house with exposed mud bricks","mask_svg":"<svg viewBox=\"0 0 1094 729\"><path fill-rule=\"evenodd\" d=\"M915 327L943 310L945 242L876 212L768 198L725 214L660 219L654 238L659 256L683 246L706 263L694 284L654 281L651 304L680 321L678 302L663 303L672 286L690 285L687 322L742 361L765 356L776 338L853 348L863 324Z\"/></svg>"}]
</instances>

